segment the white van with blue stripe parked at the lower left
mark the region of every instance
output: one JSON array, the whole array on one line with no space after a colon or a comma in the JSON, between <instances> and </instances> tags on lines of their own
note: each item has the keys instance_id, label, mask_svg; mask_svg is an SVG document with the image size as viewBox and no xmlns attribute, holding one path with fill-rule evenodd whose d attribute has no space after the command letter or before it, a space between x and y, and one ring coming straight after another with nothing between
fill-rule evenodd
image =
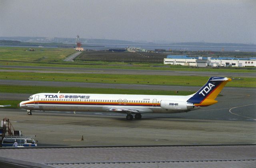
<instances>
[{"instance_id":1,"label":"white van with blue stripe parked at the lower left","mask_svg":"<svg viewBox=\"0 0 256 168\"><path fill-rule=\"evenodd\" d=\"M15 140L18 147L37 147L36 141L32 137L4 137L2 147L12 147Z\"/></svg>"}]
</instances>

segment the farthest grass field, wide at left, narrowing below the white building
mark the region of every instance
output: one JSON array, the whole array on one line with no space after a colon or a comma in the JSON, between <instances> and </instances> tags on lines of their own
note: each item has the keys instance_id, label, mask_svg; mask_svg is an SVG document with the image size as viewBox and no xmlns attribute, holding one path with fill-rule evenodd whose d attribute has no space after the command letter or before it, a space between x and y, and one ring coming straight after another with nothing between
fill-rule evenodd
<instances>
[{"instance_id":1,"label":"farthest grass field, wide at left, narrowing below the white building","mask_svg":"<svg viewBox=\"0 0 256 168\"><path fill-rule=\"evenodd\" d=\"M164 65L162 63L144 62L108 62L108 61L74 61L63 62L68 55L74 53L72 48L36 48L36 51L27 51L29 47L0 47L0 65L19 66L58 66L76 68L120 68L142 70L176 70L176 71L207 71L207 72L251 72L255 67L224 67L224 68L196 68L180 65ZM166 54L167 55L167 54Z\"/></svg>"}]
</instances>

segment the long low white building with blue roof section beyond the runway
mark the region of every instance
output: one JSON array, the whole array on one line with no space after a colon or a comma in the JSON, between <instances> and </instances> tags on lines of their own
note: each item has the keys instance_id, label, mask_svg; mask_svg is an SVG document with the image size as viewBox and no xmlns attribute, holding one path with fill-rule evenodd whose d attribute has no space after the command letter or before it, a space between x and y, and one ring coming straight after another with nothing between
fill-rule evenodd
<instances>
[{"instance_id":1,"label":"long low white building with blue roof section beyond the runway","mask_svg":"<svg viewBox=\"0 0 256 168\"><path fill-rule=\"evenodd\" d=\"M164 64L183 66L256 66L256 58L244 59L217 59L212 57L188 57L187 55L168 55Z\"/></svg>"}]
</instances>

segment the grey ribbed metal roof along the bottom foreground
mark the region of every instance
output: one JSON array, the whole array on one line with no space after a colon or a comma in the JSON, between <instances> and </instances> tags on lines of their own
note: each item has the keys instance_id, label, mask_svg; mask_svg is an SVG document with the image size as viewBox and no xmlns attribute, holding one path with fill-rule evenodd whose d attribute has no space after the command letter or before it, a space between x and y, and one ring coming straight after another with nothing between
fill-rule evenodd
<instances>
[{"instance_id":1,"label":"grey ribbed metal roof along the bottom foreground","mask_svg":"<svg viewBox=\"0 0 256 168\"><path fill-rule=\"evenodd\" d=\"M256 145L2 148L0 160L34 167L255 167Z\"/></svg>"}]
</instances>

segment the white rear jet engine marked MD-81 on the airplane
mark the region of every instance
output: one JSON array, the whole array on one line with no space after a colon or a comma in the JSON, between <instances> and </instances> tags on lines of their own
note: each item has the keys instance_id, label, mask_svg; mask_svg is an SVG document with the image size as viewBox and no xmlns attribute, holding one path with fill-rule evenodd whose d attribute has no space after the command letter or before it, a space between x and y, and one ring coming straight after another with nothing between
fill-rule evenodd
<instances>
[{"instance_id":1,"label":"white rear jet engine marked MD-81 on the airplane","mask_svg":"<svg viewBox=\"0 0 256 168\"><path fill-rule=\"evenodd\" d=\"M160 106L164 109L189 111L194 107L194 104L175 100L162 100Z\"/></svg>"}]
</instances>

